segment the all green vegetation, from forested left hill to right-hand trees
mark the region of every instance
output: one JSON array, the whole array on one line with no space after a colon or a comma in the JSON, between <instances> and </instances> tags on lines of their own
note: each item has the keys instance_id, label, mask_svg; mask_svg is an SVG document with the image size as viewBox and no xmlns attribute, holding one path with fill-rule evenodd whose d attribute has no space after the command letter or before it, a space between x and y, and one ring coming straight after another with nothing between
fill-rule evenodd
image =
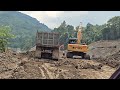
<instances>
[{"instance_id":1,"label":"all green vegetation, from forested left hill to right-hand trees","mask_svg":"<svg viewBox=\"0 0 120 90\"><path fill-rule=\"evenodd\" d=\"M76 37L77 27L67 25L65 21L58 28L49 29L35 18L16 11L0 11L0 50L5 51L6 45L21 50L29 50L35 46L37 31L59 32L60 44L67 47L70 37ZM9 26L9 27L6 27ZM11 34L10 34L11 33ZM12 38L12 34L15 38ZM88 23L83 27L82 42L90 44L99 40L116 40L120 38L120 16L115 16L103 25L92 25ZM8 42L12 44L8 44Z\"/></svg>"}]
</instances>

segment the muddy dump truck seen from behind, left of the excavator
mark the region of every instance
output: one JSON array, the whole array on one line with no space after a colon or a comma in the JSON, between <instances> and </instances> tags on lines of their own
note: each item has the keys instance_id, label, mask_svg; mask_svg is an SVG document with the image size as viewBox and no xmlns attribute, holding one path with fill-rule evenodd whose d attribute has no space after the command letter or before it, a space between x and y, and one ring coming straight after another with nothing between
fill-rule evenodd
<instances>
[{"instance_id":1,"label":"muddy dump truck seen from behind, left of the excavator","mask_svg":"<svg viewBox=\"0 0 120 90\"><path fill-rule=\"evenodd\" d=\"M35 57L58 60L59 36L55 32L37 32Z\"/></svg>"}]
</instances>

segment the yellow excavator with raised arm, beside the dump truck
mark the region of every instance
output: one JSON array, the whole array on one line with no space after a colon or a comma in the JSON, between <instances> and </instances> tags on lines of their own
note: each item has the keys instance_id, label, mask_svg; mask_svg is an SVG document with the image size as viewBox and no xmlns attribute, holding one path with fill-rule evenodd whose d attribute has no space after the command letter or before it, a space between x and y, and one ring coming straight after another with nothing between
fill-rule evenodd
<instances>
[{"instance_id":1,"label":"yellow excavator with raised arm, beside the dump truck","mask_svg":"<svg viewBox=\"0 0 120 90\"><path fill-rule=\"evenodd\" d=\"M88 45L81 43L82 39L82 22L77 30L77 38L69 38L67 45L67 58L73 58L73 56L81 56L82 59L89 59L90 56L86 53L88 52Z\"/></svg>"}]
</instances>

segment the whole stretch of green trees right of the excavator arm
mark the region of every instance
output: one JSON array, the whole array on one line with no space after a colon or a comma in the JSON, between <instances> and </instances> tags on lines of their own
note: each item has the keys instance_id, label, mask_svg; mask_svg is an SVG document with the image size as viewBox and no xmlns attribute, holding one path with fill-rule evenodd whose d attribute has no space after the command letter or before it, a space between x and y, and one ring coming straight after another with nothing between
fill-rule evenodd
<instances>
[{"instance_id":1,"label":"whole stretch of green trees right of the excavator arm","mask_svg":"<svg viewBox=\"0 0 120 90\"><path fill-rule=\"evenodd\" d=\"M90 44L98 40L120 39L120 16L115 16L107 21L107 24L87 24L83 31L83 41Z\"/></svg>"}]
</instances>

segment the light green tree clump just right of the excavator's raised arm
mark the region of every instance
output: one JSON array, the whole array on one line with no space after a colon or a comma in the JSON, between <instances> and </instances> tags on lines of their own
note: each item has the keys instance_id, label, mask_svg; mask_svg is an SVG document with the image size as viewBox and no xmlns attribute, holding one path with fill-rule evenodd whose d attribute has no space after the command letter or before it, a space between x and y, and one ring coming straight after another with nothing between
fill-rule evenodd
<instances>
[{"instance_id":1,"label":"light green tree clump just right of the excavator's raised arm","mask_svg":"<svg viewBox=\"0 0 120 90\"><path fill-rule=\"evenodd\" d=\"M102 29L103 25L92 25L88 23L86 27L83 29L83 36L82 36L82 42L85 42L86 44L90 44L92 42L98 41L102 39Z\"/></svg>"}]
</instances>

